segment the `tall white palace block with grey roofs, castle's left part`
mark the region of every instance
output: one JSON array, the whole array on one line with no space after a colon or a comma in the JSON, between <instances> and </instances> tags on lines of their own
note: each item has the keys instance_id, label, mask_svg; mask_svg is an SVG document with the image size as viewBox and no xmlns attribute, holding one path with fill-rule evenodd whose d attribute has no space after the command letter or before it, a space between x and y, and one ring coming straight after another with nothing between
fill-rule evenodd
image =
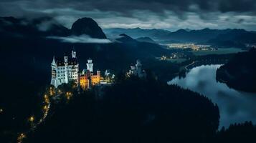
<instances>
[{"instance_id":1,"label":"tall white palace block with grey roofs, castle's left part","mask_svg":"<svg viewBox=\"0 0 256 143\"><path fill-rule=\"evenodd\" d=\"M52 80L51 84L58 87L61 84L67 84L70 81L78 82L79 64L77 62L76 51L72 50L72 57L66 54L63 59L52 59Z\"/></svg>"}]
</instances>

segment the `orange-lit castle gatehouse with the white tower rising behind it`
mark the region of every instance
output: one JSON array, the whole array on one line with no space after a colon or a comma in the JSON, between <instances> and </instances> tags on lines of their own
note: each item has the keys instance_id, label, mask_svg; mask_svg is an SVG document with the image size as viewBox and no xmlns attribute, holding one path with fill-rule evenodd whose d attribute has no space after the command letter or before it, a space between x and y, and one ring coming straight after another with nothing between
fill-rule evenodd
<instances>
[{"instance_id":1,"label":"orange-lit castle gatehouse with the white tower rising behind it","mask_svg":"<svg viewBox=\"0 0 256 143\"><path fill-rule=\"evenodd\" d=\"M97 74L93 74L93 60L87 60L87 69L82 70L80 74L80 87L82 89L90 89L95 84L100 84L100 71Z\"/></svg>"}]
</instances>

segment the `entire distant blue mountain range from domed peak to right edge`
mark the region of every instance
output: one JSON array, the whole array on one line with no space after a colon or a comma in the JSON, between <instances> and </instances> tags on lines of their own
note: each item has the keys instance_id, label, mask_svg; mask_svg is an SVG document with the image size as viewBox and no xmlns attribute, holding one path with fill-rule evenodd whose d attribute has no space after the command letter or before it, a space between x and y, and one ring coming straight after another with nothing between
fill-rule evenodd
<instances>
[{"instance_id":1,"label":"entire distant blue mountain range from domed peak to right edge","mask_svg":"<svg viewBox=\"0 0 256 143\"><path fill-rule=\"evenodd\" d=\"M213 44L215 46L237 46L245 47L245 44L255 43L255 31L244 29L179 29L167 31L161 29L104 29L108 36L128 34L138 39L139 37L150 37L158 43L194 42L201 44Z\"/></svg>"}]
</instances>

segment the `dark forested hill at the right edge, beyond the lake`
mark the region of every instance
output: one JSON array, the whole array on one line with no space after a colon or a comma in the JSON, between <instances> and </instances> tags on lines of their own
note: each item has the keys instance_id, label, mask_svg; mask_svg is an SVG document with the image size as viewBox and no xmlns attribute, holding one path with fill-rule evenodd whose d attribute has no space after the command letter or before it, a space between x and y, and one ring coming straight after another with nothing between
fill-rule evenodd
<instances>
[{"instance_id":1,"label":"dark forested hill at the right edge, beyond the lake","mask_svg":"<svg viewBox=\"0 0 256 143\"><path fill-rule=\"evenodd\" d=\"M245 92L256 92L256 50L237 53L217 69L217 80Z\"/></svg>"}]
</instances>

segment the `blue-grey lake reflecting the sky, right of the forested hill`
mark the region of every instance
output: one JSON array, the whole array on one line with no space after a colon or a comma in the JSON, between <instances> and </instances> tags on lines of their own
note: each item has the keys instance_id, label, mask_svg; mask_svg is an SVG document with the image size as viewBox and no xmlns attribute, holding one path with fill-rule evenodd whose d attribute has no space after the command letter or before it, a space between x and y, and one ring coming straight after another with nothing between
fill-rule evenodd
<instances>
[{"instance_id":1,"label":"blue-grey lake reflecting the sky, right of the forested hill","mask_svg":"<svg viewBox=\"0 0 256 143\"><path fill-rule=\"evenodd\" d=\"M221 65L197 66L185 78L176 77L168 84L177 84L212 99L219 107L219 129L245 121L256 124L256 94L240 92L217 82L216 71L219 66Z\"/></svg>"}]
</instances>

